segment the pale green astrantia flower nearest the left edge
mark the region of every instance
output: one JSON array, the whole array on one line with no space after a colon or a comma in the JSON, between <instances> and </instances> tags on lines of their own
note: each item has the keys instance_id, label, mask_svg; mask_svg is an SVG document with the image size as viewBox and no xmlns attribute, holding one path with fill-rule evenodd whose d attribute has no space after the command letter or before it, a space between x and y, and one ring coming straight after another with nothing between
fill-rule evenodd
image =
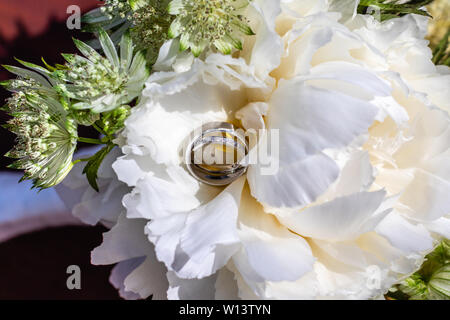
<instances>
[{"instance_id":1,"label":"pale green astrantia flower nearest the left edge","mask_svg":"<svg viewBox=\"0 0 450 320\"><path fill-rule=\"evenodd\" d=\"M39 189L61 182L72 168L77 144L76 123L65 108L30 90L14 93L4 110L13 117L7 128L17 135L16 146L6 156L19 160L10 167L25 170L22 180L32 180Z\"/></svg>"}]
</instances>

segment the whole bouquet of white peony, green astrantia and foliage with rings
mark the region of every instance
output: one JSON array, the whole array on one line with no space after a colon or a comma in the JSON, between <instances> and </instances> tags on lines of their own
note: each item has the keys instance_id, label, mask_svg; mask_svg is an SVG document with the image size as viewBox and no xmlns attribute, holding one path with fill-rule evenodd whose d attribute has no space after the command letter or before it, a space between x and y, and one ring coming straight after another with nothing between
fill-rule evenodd
<instances>
[{"instance_id":1,"label":"whole bouquet of white peony, green astrantia and foliage with rings","mask_svg":"<svg viewBox=\"0 0 450 320\"><path fill-rule=\"evenodd\" d=\"M449 299L431 2L107 0L64 65L5 66L8 156L110 228L127 299Z\"/></svg>"}]
</instances>

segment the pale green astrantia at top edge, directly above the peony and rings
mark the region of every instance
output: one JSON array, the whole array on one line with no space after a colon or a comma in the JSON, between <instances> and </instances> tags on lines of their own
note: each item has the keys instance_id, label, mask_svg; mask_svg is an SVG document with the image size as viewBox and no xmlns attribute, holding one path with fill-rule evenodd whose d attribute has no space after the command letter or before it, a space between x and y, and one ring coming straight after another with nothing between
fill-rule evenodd
<instances>
[{"instance_id":1,"label":"pale green astrantia at top edge, directly above the peony and rings","mask_svg":"<svg viewBox=\"0 0 450 320\"><path fill-rule=\"evenodd\" d=\"M169 13L176 16L169 36L180 36L180 49L191 49L195 56L214 45L224 54L242 50L242 35L252 35L242 15L249 0L172 0Z\"/></svg>"}]
</instances>

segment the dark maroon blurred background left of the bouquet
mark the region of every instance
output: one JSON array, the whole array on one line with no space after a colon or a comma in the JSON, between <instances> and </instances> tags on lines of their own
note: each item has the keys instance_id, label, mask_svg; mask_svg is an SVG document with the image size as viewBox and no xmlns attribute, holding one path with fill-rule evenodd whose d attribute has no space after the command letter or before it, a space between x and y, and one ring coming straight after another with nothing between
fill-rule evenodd
<instances>
[{"instance_id":1,"label":"dark maroon blurred background left of the bouquet","mask_svg":"<svg viewBox=\"0 0 450 320\"><path fill-rule=\"evenodd\" d=\"M87 12L102 2L97 0L0 0L0 64L17 65L14 57L42 64L63 63L60 53L75 53L72 37L87 40L84 34L66 27L70 5ZM12 78L3 68L0 81ZM9 93L0 89L0 105ZM0 111L0 124L7 116ZM85 136L95 133L84 132ZM0 128L0 173L8 170L10 159L3 157L14 135ZM3 186L0 185L0 188ZM1 189L0 189L1 190ZM6 203L0 202L0 215ZM111 266L92 266L90 252L102 242L102 227L52 228L0 242L0 299L119 299L109 283ZM68 290L66 269L81 268L81 290Z\"/></svg>"}]
</instances>

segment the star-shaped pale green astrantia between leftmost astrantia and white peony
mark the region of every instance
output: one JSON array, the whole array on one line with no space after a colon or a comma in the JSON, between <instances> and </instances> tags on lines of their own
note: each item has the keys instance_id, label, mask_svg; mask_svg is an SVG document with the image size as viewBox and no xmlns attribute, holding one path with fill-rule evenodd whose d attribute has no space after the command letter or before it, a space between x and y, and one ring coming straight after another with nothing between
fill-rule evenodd
<instances>
[{"instance_id":1,"label":"star-shaped pale green astrantia between leftmost astrantia and white peony","mask_svg":"<svg viewBox=\"0 0 450 320\"><path fill-rule=\"evenodd\" d=\"M144 54L141 51L133 54L128 34L120 42L120 57L105 31L100 31L99 40L106 58L87 44L74 40L86 58L65 54L67 69L57 71L58 77L67 82L57 86L60 93L78 100L72 107L95 113L133 101L140 95L149 74Z\"/></svg>"}]
</instances>

